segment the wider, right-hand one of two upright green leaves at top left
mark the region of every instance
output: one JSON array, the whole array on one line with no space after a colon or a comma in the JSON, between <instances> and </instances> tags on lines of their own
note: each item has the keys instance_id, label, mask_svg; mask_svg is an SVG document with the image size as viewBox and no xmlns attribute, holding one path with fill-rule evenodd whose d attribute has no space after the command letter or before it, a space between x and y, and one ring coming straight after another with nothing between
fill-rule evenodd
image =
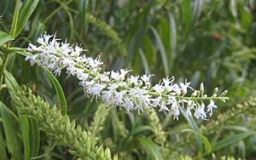
<instances>
[{"instance_id":1,"label":"wider, right-hand one of two upright green leaves at top left","mask_svg":"<svg viewBox=\"0 0 256 160\"><path fill-rule=\"evenodd\" d=\"M23 2L20 8L19 19L14 36L17 37L26 25L26 21L29 19L34 9L36 9L39 0L26 0Z\"/></svg>"}]
</instances>

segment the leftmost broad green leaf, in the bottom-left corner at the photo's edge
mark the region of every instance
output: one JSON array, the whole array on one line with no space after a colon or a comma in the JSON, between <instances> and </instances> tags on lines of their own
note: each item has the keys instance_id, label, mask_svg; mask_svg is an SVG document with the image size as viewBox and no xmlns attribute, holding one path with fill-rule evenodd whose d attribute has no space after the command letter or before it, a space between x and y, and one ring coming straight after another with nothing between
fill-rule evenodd
<instances>
[{"instance_id":1,"label":"leftmost broad green leaf, in the bottom-left corner at the photo's edge","mask_svg":"<svg viewBox=\"0 0 256 160\"><path fill-rule=\"evenodd\" d=\"M7 148L13 159L20 159L21 147L20 139L17 133L17 126L15 125L11 111L0 101L0 112L3 120L3 129L6 137Z\"/></svg>"}]
</instances>

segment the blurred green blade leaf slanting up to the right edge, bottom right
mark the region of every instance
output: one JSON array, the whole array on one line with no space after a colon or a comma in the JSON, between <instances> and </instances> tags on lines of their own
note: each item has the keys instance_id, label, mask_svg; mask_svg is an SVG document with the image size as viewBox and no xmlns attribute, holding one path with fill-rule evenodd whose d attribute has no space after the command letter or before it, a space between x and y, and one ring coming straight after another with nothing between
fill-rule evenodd
<instances>
[{"instance_id":1,"label":"blurred green blade leaf slanting up to the right edge, bottom right","mask_svg":"<svg viewBox=\"0 0 256 160\"><path fill-rule=\"evenodd\" d=\"M256 131L249 131L249 132L242 133L242 134L236 134L233 136L229 136L228 138L226 138L224 140L219 140L215 145L212 146L212 151L218 151L226 146L230 146L230 145L238 142L239 140L245 139L248 136L251 136L253 134L256 134Z\"/></svg>"}]
</instances>

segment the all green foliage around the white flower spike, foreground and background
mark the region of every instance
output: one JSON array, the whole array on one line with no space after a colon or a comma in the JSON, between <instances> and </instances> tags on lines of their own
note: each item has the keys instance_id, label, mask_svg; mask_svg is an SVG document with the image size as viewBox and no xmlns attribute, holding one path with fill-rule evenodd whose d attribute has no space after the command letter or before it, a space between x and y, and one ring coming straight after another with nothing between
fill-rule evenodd
<instances>
[{"instance_id":1,"label":"all green foliage around the white flower spike, foreground and background","mask_svg":"<svg viewBox=\"0 0 256 160\"><path fill-rule=\"evenodd\" d=\"M253 159L255 10L254 0L0 0L0 159ZM208 121L108 107L78 79L30 66L28 43L44 31L102 53L102 72L188 79L201 96L204 82L230 100Z\"/></svg>"}]
</instances>

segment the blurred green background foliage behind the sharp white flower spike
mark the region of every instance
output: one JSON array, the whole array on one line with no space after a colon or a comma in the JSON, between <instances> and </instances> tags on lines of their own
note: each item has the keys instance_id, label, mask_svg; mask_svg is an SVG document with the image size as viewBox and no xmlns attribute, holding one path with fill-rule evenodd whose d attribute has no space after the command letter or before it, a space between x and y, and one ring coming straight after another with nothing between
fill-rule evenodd
<instances>
[{"instance_id":1,"label":"blurred green background foliage behind the sharp white flower spike","mask_svg":"<svg viewBox=\"0 0 256 160\"><path fill-rule=\"evenodd\" d=\"M9 32L14 0L0 0L0 29ZM102 53L103 70L129 68L133 74L186 78L206 92L228 89L210 121L157 111L126 114L88 100L78 81L57 77L67 98L68 116L96 136L120 159L253 159L256 157L256 2L254 0L41 0L12 46L26 48L44 31L87 54ZM7 69L18 83L57 102L49 77L12 54ZM8 94L1 100L9 101ZM2 127L3 128L3 127ZM41 134L37 156L70 159L68 148ZM180 156L183 155L183 156Z\"/></svg>"}]
</instances>

